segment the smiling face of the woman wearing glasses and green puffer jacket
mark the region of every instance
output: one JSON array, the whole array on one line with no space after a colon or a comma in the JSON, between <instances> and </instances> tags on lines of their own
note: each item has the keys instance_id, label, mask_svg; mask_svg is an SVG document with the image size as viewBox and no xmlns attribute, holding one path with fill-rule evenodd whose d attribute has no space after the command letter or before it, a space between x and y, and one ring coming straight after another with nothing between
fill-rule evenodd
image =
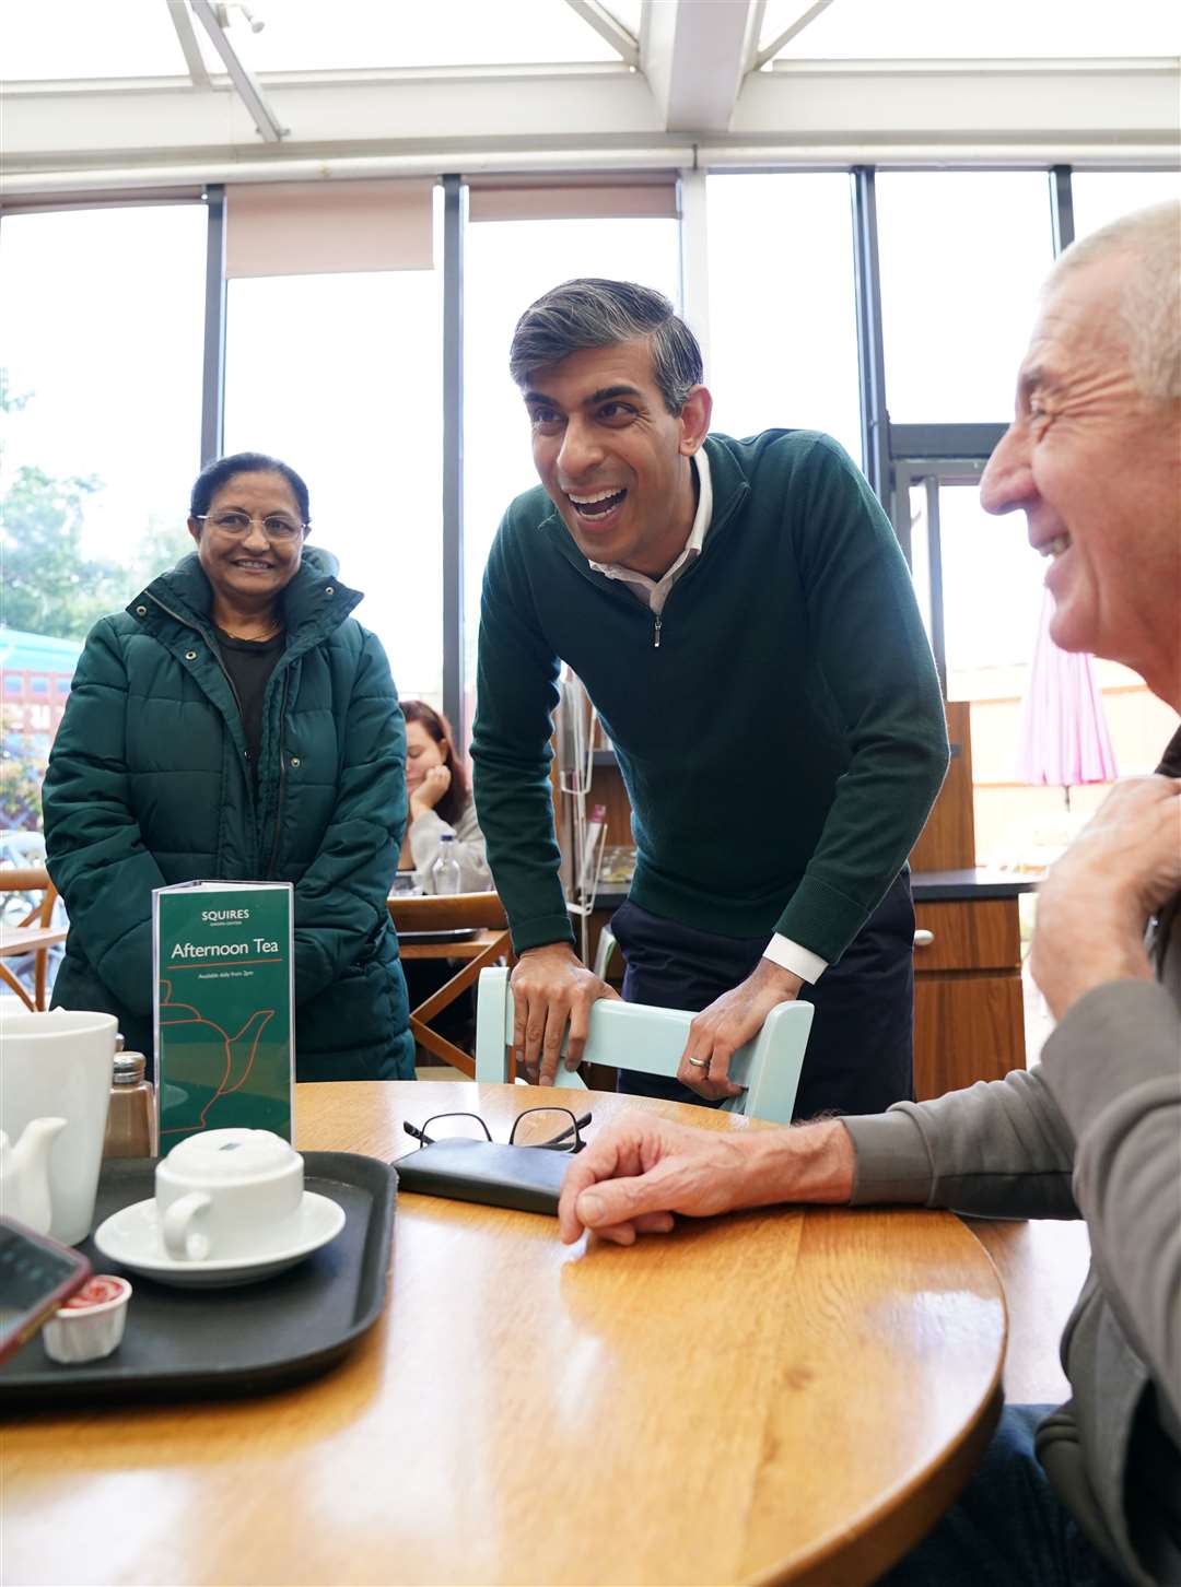
<instances>
[{"instance_id":1,"label":"smiling face of the woman wearing glasses and green puffer jacket","mask_svg":"<svg viewBox=\"0 0 1181 1587\"><path fill-rule=\"evenodd\" d=\"M252 519L249 530L244 535L219 530L216 519L227 513ZM295 578L305 532L292 540L271 540L262 528L267 517L284 517L292 524L303 519L287 481L270 470L232 475L214 492L205 522L189 519L189 533L197 541L197 555L213 586L214 606L265 611Z\"/></svg>"}]
</instances>

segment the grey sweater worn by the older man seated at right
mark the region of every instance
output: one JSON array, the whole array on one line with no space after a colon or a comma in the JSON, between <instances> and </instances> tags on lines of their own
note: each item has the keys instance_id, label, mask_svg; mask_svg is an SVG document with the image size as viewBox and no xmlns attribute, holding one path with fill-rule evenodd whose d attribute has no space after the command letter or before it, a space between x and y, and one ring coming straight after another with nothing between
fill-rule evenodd
<instances>
[{"instance_id":1,"label":"grey sweater worn by the older man seated at right","mask_svg":"<svg viewBox=\"0 0 1181 1587\"><path fill-rule=\"evenodd\" d=\"M843 1120L854 1203L1087 1220L1091 1271L1062 1336L1073 1393L1041 1422L1037 1452L1095 1547L1143 1584L1181 1582L1176 908L1149 943L1160 984L1095 987L1038 1068Z\"/></svg>"}]
</instances>

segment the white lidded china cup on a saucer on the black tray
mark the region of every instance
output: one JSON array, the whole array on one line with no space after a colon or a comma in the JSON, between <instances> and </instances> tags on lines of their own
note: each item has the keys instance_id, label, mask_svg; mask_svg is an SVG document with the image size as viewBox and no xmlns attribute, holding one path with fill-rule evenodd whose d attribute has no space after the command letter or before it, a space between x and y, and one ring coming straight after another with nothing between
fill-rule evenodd
<instances>
[{"instance_id":1,"label":"white lidded china cup on a saucer on the black tray","mask_svg":"<svg viewBox=\"0 0 1181 1587\"><path fill-rule=\"evenodd\" d=\"M262 1255L292 1232L303 1159L270 1130L203 1130L156 1170L156 1211L175 1262Z\"/></svg>"}]
</instances>

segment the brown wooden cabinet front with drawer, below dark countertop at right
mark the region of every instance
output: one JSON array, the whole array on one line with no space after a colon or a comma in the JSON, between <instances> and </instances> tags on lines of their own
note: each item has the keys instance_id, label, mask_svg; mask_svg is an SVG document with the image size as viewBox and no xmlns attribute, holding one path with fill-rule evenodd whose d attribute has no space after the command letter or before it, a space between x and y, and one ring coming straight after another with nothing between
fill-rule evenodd
<instances>
[{"instance_id":1,"label":"brown wooden cabinet front with drawer, below dark countertop at right","mask_svg":"<svg viewBox=\"0 0 1181 1587\"><path fill-rule=\"evenodd\" d=\"M914 1095L1025 1066L1016 898L914 906Z\"/></svg>"}]
</instances>

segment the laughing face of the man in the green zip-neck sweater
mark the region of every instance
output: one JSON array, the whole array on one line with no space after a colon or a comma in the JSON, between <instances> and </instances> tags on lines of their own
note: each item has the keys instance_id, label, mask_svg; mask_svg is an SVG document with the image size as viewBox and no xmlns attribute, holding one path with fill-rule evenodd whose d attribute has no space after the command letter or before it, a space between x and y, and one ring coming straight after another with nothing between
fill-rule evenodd
<instances>
[{"instance_id":1,"label":"laughing face of the man in the green zip-neck sweater","mask_svg":"<svg viewBox=\"0 0 1181 1587\"><path fill-rule=\"evenodd\" d=\"M668 413L648 341L633 340L533 370L524 397L533 463L578 549L665 573L694 525L689 459L710 428L708 390L695 386Z\"/></svg>"}]
</instances>

